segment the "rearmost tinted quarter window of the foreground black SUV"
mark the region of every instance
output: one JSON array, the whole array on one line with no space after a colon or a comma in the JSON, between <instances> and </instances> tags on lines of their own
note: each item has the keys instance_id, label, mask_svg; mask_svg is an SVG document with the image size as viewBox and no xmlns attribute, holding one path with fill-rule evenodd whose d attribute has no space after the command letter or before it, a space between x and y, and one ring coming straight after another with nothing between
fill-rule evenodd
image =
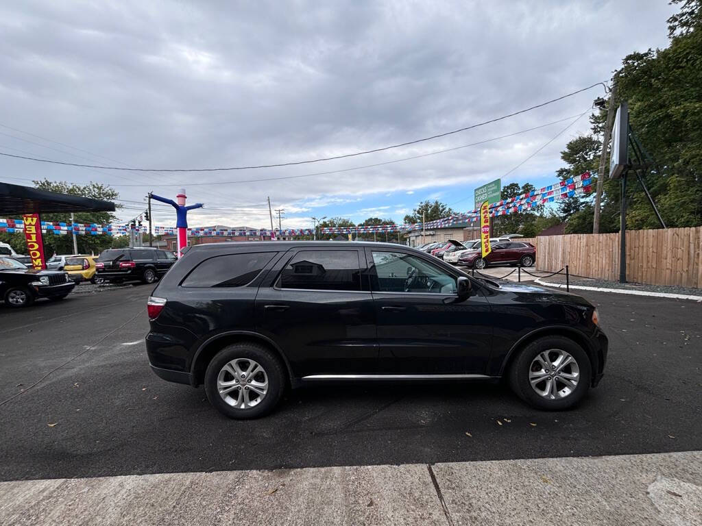
<instances>
[{"instance_id":1,"label":"rearmost tinted quarter window of the foreground black SUV","mask_svg":"<svg viewBox=\"0 0 702 526\"><path fill-rule=\"evenodd\" d=\"M277 252L253 252L211 257L183 281L183 287L243 287L253 281Z\"/></svg>"}]
</instances>

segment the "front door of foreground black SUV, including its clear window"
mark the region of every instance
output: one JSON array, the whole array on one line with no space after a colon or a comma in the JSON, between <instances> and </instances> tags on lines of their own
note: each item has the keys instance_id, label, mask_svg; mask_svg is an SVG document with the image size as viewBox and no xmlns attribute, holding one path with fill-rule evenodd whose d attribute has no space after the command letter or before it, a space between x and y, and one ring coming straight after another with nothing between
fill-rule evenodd
<instances>
[{"instance_id":1,"label":"front door of foreground black SUV, including its clear window","mask_svg":"<svg viewBox=\"0 0 702 526\"><path fill-rule=\"evenodd\" d=\"M366 249L383 375L482 375L489 360L490 305L479 292L462 301L456 279L405 250ZM475 283L475 282L474 282Z\"/></svg>"}]
</instances>

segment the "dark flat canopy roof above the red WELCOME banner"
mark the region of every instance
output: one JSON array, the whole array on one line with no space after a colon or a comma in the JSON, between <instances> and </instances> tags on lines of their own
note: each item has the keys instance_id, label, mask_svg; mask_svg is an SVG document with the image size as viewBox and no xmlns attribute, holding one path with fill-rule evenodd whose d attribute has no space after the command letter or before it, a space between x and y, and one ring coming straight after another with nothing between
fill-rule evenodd
<instances>
[{"instance_id":1,"label":"dark flat canopy roof above the red WELCOME banner","mask_svg":"<svg viewBox=\"0 0 702 526\"><path fill-rule=\"evenodd\" d=\"M114 203L0 182L0 214L114 212Z\"/></svg>"}]
</instances>

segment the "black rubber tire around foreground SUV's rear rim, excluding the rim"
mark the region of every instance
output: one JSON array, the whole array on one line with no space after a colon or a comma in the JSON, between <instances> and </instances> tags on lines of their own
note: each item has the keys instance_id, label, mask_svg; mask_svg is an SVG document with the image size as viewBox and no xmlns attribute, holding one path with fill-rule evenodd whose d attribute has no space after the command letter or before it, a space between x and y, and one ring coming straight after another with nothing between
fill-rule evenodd
<instances>
[{"instance_id":1,"label":"black rubber tire around foreground SUV's rear rim, excluding the rim","mask_svg":"<svg viewBox=\"0 0 702 526\"><path fill-rule=\"evenodd\" d=\"M225 402L224 398L220 396L217 384L218 376L223 367L227 363L232 362L232 360L237 359L242 360L242 363L246 363L246 360L253 360L258 363L263 367L268 380L267 392L263 399L253 407L246 407L245 409L233 407L230 403ZM225 378L227 378L227 375L228 373L225 373ZM258 377L258 379L260 378ZM278 404L285 390L286 372L279 358L267 347L253 343L232 344L226 346L212 358L205 372L204 385L207 399L220 413L234 419L252 419L268 414ZM242 385L244 385L244 389L249 389L243 382ZM241 386L238 389L241 389ZM239 391L236 392L238 393ZM234 401L233 398L232 401Z\"/></svg>"}]
</instances>

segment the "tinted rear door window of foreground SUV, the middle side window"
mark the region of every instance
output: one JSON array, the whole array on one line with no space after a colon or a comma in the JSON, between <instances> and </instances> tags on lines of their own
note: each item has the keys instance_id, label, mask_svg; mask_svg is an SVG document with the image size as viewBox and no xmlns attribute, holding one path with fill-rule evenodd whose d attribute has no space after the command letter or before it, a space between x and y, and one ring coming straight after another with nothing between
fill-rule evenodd
<instances>
[{"instance_id":1,"label":"tinted rear door window of foreground SUV, the middle side window","mask_svg":"<svg viewBox=\"0 0 702 526\"><path fill-rule=\"evenodd\" d=\"M302 250L280 276L281 288L361 290L357 250Z\"/></svg>"}]
</instances>

